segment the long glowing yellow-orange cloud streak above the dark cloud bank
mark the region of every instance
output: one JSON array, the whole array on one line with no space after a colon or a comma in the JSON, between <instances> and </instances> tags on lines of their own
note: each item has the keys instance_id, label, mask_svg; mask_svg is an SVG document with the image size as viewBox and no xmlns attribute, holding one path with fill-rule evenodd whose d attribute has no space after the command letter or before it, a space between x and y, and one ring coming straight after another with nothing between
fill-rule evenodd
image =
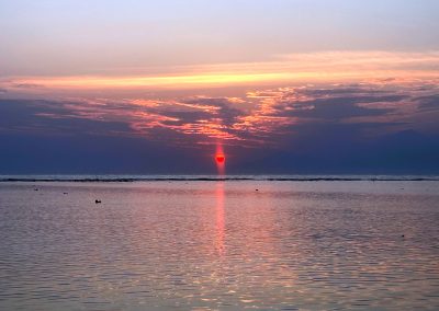
<instances>
[{"instance_id":1,"label":"long glowing yellow-orange cloud streak above the dark cloud bank","mask_svg":"<svg viewBox=\"0 0 439 311\"><path fill-rule=\"evenodd\" d=\"M439 51L333 51L282 55L272 61L164 68L131 76L124 69L102 77L10 77L0 87L14 92L60 90L190 90L284 83L334 83L370 79L438 79ZM134 71L134 69L133 69ZM178 72L178 73L176 73ZM34 85L21 88L20 85ZM37 88L37 85L42 85Z\"/></svg>"}]
</instances>

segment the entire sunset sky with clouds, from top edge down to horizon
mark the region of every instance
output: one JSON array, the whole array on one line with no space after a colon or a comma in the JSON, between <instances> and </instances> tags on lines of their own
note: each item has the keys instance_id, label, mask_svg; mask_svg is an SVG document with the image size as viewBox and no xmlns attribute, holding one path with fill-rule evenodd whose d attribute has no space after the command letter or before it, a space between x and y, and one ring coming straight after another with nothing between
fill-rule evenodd
<instances>
[{"instance_id":1,"label":"entire sunset sky with clouds, from top edge down to horizon","mask_svg":"<svg viewBox=\"0 0 439 311\"><path fill-rule=\"evenodd\" d=\"M438 174L438 12L2 0L0 174Z\"/></svg>"}]
</instances>

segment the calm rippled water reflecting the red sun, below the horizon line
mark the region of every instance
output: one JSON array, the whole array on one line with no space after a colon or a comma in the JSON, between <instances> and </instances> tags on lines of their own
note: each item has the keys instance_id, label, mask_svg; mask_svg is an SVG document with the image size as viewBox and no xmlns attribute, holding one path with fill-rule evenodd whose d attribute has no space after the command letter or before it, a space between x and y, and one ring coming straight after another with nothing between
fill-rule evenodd
<instances>
[{"instance_id":1,"label":"calm rippled water reflecting the red sun, below the horizon line","mask_svg":"<svg viewBox=\"0 0 439 311\"><path fill-rule=\"evenodd\" d=\"M3 182L0 310L438 310L438 223L437 181Z\"/></svg>"}]
</instances>

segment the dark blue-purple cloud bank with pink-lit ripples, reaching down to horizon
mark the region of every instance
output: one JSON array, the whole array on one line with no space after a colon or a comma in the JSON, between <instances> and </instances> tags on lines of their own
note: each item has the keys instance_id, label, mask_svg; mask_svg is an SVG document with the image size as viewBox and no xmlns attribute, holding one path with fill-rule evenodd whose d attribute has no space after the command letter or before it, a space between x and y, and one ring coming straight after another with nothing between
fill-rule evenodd
<instances>
[{"instance_id":1,"label":"dark blue-purple cloud bank with pink-lit ripples, reaching down to horizon","mask_svg":"<svg viewBox=\"0 0 439 311\"><path fill-rule=\"evenodd\" d=\"M0 162L4 172L29 172L37 159L48 171L113 172L124 163L124 172L194 173L196 163L212 173L210 157L221 142L236 173L426 172L438 169L438 99L434 82L395 80L255 89L241 96L3 99L0 137L8 151Z\"/></svg>"}]
</instances>

